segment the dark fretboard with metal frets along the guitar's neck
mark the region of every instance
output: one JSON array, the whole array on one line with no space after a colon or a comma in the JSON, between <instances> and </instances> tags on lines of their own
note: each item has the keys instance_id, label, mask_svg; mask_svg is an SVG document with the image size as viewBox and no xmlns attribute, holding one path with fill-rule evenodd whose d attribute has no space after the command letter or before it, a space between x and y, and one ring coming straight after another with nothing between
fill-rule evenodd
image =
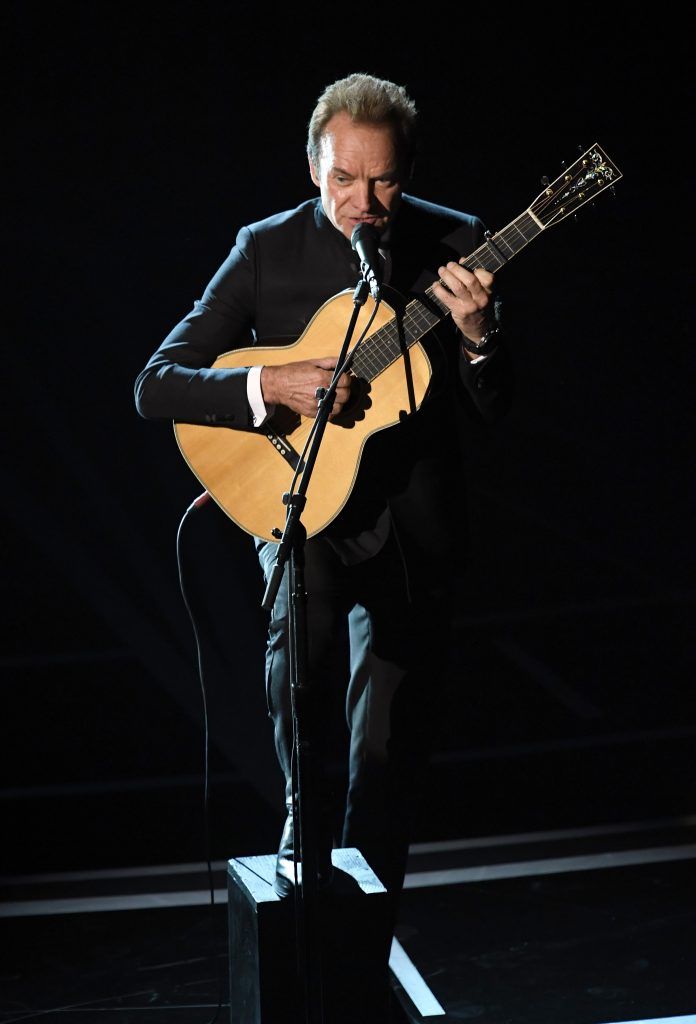
<instances>
[{"instance_id":1,"label":"dark fretboard with metal frets along the guitar's neck","mask_svg":"<svg viewBox=\"0 0 696 1024\"><path fill-rule=\"evenodd\" d=\"M467 270L482 267L495 272L542 230L543 224L525 210L497 234L486 239L462 265ZM401 317L394 316L361 344L353 359L353 373L362 380L375 380L448 313L432 287L428 288L424 299L411 299Z\"/></svg>"}]
</instances>

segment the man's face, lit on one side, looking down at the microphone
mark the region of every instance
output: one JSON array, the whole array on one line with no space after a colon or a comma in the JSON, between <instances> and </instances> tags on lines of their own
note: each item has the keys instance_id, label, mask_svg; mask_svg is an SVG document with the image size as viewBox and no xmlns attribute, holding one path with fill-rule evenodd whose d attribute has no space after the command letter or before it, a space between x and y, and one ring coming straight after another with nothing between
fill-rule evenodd
<instances>
[{"instance_id":1,"label":"man's face, lit on one side, looking down at the microphone","mask_svg":"<svg viewBox=\"0 0 696 1024\"><path fill-rule=\"evenodd\" d=\"M401 175L391 127L355 124L336 114L321 135L318 167L309 162L324 213L350 239L356 224L384 231L401 198Z\"/></svg>"}]
</instances>

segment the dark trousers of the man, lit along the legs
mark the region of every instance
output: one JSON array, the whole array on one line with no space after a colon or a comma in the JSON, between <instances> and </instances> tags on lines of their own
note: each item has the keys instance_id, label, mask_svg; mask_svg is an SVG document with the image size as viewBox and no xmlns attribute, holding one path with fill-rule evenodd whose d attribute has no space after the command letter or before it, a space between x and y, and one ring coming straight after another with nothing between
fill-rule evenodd
<instances>
[{"instance_id":1,"label":"dark trousers of the man, lit along the legs","mask_svg":"<svg viewBox=\"0 0 696 1024\"><path fill-rule=\"evenodd\" d=\"M276 546L258 542L266 578ZM442 566L415 568L392 526L380 552L345 565L319 537L304 549L309 700L305 727L319 763L334 756L345 714L348 784L336 845L357 847L390 892L396 920L433 729L442 710L449 600ZM290 794L293 717L288 573L271 613L266 689L275 750ZM319 788L327 776L317 774Z\"/></svg>"}]
</instances>

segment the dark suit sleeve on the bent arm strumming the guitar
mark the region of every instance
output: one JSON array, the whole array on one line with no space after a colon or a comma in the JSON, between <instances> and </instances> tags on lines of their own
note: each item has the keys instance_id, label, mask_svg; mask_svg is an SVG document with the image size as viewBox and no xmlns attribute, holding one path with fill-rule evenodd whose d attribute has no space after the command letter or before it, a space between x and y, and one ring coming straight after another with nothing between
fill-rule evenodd
<instances>
[{"instance_id":1,"label":"dark suit sleeve on the bent arm strumming the guitar","mask_svg":"<svg viewBox=\"0 0 696 1024\"><path fill-rule=\"evenodd\" d=\"M256 266L247 227L191 311L167 335L135 382L145 419L251 429L245 368L214 369L223 352L254 341Z\"/></svg>"}]
</instances>

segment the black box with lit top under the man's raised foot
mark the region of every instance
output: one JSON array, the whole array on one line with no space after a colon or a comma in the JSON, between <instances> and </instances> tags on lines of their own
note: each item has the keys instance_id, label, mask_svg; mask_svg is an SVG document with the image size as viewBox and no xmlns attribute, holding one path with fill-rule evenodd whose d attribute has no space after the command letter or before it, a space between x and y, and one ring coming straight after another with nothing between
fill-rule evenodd
<instances>
[{"instance_id":1,"label":"black box with lit top under the man's raised foot","mask_svg":"<svg viewBox=\"0 0 696 1024\"><path fill-rule=\"evenodd\" d=\"M325 1024L389 1020L387 892L355 849L334 850L317 893ZM228 862L230 1024L305 1024L295 898L273 891L275 854Z\"/></svg>"}]
</instances>

